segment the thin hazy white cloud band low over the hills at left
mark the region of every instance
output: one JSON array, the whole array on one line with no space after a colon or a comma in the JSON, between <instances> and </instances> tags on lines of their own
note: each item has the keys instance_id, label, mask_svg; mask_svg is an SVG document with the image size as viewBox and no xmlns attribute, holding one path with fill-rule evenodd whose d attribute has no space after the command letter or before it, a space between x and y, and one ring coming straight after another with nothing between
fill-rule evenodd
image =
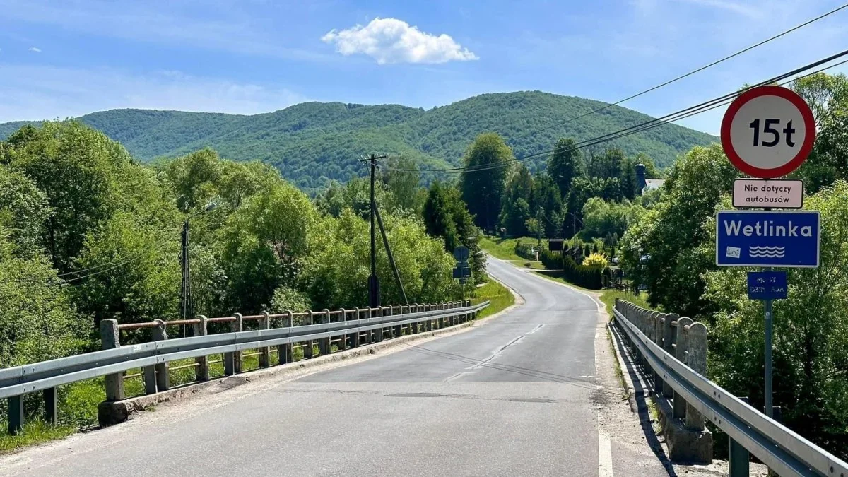
<instances>
[{"instance_id":1,"label":"thin hazy white cloud band low over the hills at left","mask_svg":"<svg viewBox=\"0 0 848 477\"><path fill-rule=\"evenodd\" d=\"M189 76L178 71L131 75L106 68L2 64L0 68L0 122L76 117L117 108L249 115L307 99L285 87Z\"/></svg>"}]
</instances>

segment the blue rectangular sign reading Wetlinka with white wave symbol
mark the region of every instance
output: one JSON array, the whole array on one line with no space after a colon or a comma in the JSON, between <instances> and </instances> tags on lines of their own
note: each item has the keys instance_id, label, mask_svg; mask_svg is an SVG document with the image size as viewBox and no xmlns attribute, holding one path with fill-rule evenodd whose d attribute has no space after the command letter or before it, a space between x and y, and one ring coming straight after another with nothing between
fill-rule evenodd
<instances>
[{"instance_id":1,"label":"blue rectangular sign reading Wetlinka with white wave symbol","mask_svg":"<svg viewBox=\"0 0 848 477\"><path fill-rule=\"evenodd\" d=\"M816 210L721 210L716 214L719 267L818 267Z\"/></svg>"}]
</instances>

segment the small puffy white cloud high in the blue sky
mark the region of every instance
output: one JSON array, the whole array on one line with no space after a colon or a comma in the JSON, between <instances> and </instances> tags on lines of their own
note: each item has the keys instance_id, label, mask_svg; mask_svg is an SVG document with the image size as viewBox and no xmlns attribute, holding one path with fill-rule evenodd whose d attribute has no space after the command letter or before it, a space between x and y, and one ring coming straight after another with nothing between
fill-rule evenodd
<instances>
[{"instance_id":1,"label":"small puffy white cloud high in the blue sky","mask_svg":"<svg viewBox=\"0 0 848 477\"><path fill-rule=\"evenodd\" d=\"M468 61L477 55L462 48L444 33L435 36L410 26L403 20L376 18L368 25L356 25L342 31L332 30L321 40L334 44L343 55L365 53L377 59L379 65L387 63L447 63Z\"/></svg>"}]
</instances>

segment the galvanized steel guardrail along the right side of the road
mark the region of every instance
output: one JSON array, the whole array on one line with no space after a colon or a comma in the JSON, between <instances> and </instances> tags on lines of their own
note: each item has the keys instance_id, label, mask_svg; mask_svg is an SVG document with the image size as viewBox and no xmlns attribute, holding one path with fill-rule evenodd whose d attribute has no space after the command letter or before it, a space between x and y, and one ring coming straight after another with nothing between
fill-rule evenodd
<instances>
[{"instance_id":1,"label":"galvanized steel guardrail along the right side of the road","mask_svg":"<svg viewBox=\"0 0 848 477\"><path fill-rule=\"evenodd\" d=\"M632 304L616 300L616 323L654 373L739 445L779 475L848 477L848 463L796 434L773 418L731 395L727 390L678 361L648 334L632 323L625 312ZM733 472L733 465L731 465Z\"/></svg>"}]
</instances>

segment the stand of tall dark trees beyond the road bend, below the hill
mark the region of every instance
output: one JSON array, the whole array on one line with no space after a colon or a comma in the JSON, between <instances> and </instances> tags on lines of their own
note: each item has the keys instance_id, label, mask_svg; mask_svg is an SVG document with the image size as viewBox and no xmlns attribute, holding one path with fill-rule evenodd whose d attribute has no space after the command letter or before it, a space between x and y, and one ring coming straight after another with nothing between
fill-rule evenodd
<instances>
[{"instance_id":1,"label":"stand of tall dark trees beyond the road bend, below the hill","mask_svg":"<svg viewBox=\"0 0 848 477\"><path fill-rule=\"evenodd\" d=\"M573 139L563 138L546 168L532 174L501 137L488 133L468 150L460 187L477 225L489 233L544 238L580 233L588 242L616 243L656 198L641 195L638 164L645 178L659 177L644 154L628 157L621 149L584 154Z\"/></svg>"}]
</instances>

